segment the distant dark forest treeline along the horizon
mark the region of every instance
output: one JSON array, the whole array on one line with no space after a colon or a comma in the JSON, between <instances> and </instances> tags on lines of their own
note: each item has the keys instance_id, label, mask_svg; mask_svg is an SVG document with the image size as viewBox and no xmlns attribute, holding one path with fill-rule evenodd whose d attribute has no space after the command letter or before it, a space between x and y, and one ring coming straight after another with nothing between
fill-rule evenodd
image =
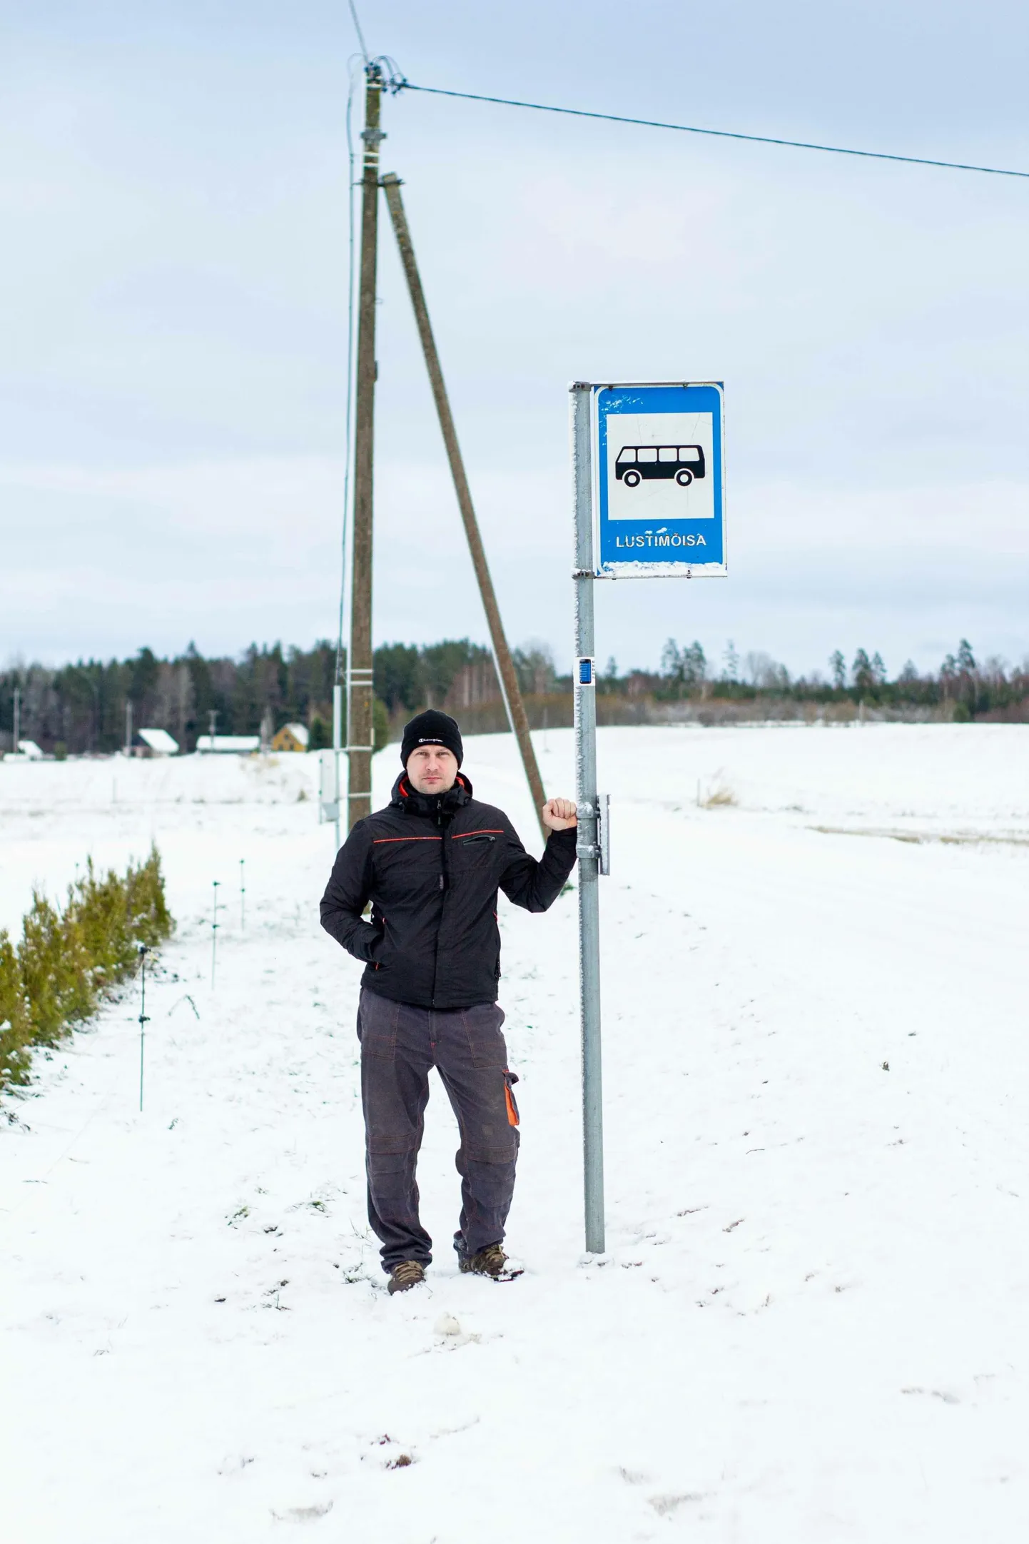
<instances>
[{"instance_id":1,"label":"distant dark forest treeline along the horizon","mask_svg":"<svg viewBox=\"0 0 1029 1544\"><path fill-rule=\"evenodd\" d=\"M571 675L558 675L540 644L517 648L514 658L531 723L569 724ZM335 644L327 641L307 650L251 644L236 659L207 659L190 644L174 659L140 648L131 659L12 665L0 672L0 749L12 744L15 687L20 738L57 755L117 750L127 704L136 729L167 729L182 750L193 750L211 724L224 735L256 735L295 721L309 726L318 749L330 743L335 670ZM909 661L893 679L879 655L864 648L850 664L833 653L825 675L791 678L765 653L741 658L731 642L714 665L699 642L679 647L670 639L659 670L622 673L609 659L597 690L599 718L609 724L822 715L1029 721L1029 661L980 664L966 639L936 672L921 675ZM467 638L376 648L375 695L380 744L427 706L454 712L469 732L506 727L491 653Z\"/></svg>"}]
</instances>

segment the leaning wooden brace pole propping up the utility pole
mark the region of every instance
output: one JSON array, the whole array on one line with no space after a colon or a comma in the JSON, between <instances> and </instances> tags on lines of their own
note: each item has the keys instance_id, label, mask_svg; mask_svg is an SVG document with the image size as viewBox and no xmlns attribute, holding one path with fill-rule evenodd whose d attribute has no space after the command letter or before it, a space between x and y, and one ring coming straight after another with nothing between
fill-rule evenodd
<instances>
[{"instance_id":1,"label":"leaning wooden brace pole propping up the utility pole","mask_svg":"<svg viewBox=\"0 0 1029 1544\"><path fill-rule=\"evenodd\" d=\"M418 275L415 249L410 241L407 216L404 215L404 205L400 196L400 178L395 171L386 173L383 178L383 188L386 190L386 202L389 205L390 219L393 221L393 230L396 233L396 245L400 247L400 261L404 266L407 289L410 290L410 303L415 307L415 321L418 323L418 335L421 337L421 349L426 357L426 369L429 371L432 395L435 398L437 414L440 415L443 443L446 445L447 460L450 462L454 491L457 493L461 520L464 522L464 534L472 554L472 567L475 568L475 577L478 579L478 593L483 598L483 608L489 624L489 636L494 645L494 659L497 662L500 689L504 695L504 706L508 709L508 721L511 723L514 736L518 741L521 764L529 783L529 794L532 795L532 804L535 808L537 820L540 821L540 831L543 832L543 840L546 841L548 831L540 815L540 811L546 803L543 778L540 777L540 769L535 761L535 750L532 749L532 736L529 733L529 720L526 718L518 678L515 675L511 650L508 648L508 639L504 638L503 622L500 621L500 607L497 605L494 582L489 577L489 565L483 550L483 539L478 533L475 506L472 505L472 494L467 486L467 477L464 476L461 448L457 443L457 429L454 428L450 401L443 383L440 355L437 354L435 338L432 337L432 324L429 321L429 309L426 306L426 296Z\"/></svg>"}]
</instances>

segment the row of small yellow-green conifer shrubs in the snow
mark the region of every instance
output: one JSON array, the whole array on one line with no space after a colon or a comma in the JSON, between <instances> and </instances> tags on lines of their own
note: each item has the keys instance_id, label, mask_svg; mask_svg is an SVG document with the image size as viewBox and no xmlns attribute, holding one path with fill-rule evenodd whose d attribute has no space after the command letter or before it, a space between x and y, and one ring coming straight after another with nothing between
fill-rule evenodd
<instances>
[{"instance_id":1,"label":"row of small yellow-green conifer shrubs in the snow","mask_svg":"<svg viewBox=\"0 0 1029 1544\"><path fill-rule=\"evenodd\" d=\"M139 945L173 928L156 848L123 875L89 860L63 908L34 891L20 942L0 929L0 1089L28 1082L29 1047L56 1045L88 1019L134 971Z\"/></svg>"}]
</instances>

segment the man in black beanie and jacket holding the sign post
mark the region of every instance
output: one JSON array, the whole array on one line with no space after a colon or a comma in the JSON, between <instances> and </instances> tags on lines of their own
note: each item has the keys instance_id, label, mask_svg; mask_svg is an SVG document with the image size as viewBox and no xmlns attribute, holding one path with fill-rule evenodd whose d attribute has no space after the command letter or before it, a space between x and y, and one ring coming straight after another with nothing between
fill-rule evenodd
<instances>
[{"instance_id":1,"label":"man in black beanie and jacket holding the sign post","mask_svg":"<svg viewBox=\"0 0 1029 1544\"><path fill-rule=\"evenodd\" d=\"M417 1286L432 1260L415 1183L430 1067L461 1133L460 1268L495 1282L518 1275L501 1248L518 1110L497 1007L497 889L526 911L546 911L575 863L571 800L543 806L549 837L537 863L503 811L472 797L463 755L447 713L412 718L390 803L356 823L321 902L322 928L364 962L358 1038L369 1221L390 1292Z\"/></svg>"}]
</instances>

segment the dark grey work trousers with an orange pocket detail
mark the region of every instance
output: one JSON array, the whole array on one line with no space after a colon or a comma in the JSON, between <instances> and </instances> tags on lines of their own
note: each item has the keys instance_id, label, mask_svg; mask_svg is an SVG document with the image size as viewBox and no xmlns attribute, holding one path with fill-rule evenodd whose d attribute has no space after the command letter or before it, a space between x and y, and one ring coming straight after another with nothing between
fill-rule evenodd
<instances>
[{"instance_id":1,"label":"dark grey work trousers with an orange pocket detail","mask_svg":"<svg viewBox=\"0 0 1029 1544\"><path fill-rule=\"evenodd\" d=\"M495 1002L440 1011L361 991L369 1221L381 1240L387 1272L401 1260L432 1260L432 1238L418 1220L415 1181L430 1067L440 1073L461 1133L461 1220L454 1248L474 1255L504 1237L518 1156L518 1110L503 1022Z\"/></svg>"}]
</instances>

